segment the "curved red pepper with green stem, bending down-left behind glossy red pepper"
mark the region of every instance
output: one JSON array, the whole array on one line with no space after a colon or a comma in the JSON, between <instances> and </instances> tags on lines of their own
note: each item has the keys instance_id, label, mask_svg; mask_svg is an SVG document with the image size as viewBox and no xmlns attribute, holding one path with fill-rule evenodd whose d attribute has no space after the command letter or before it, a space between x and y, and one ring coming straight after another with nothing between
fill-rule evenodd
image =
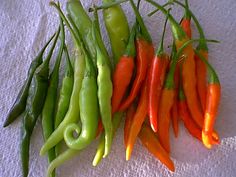
<instances>
[{"instance_id":1,"label":"curved red pepper with green stem, bending down-left behind glossy red pepper","mask_svg":"<svg viewBox=\"0 0 236 177\"><path fill-rule=\"evenodd\" d=\"M119 108L120 111L126 110L138 95L141 85L146 78L148 66L154 56L154 48L150 34L133 0L130 0L130 3L136 14L136 18L141 28L141 31L139 31L139 34L137 34L137 39L136 39L136 49L137 49L136 76L128 97L121 103L121 106Z\"/></svg>"}]
</instances>

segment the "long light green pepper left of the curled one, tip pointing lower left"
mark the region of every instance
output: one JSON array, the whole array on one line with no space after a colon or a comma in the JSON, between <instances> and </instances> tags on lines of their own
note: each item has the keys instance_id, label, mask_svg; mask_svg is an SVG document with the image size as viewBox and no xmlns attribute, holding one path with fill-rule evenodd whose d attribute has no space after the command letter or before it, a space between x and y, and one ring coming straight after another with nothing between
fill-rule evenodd
<instances>
[{"instance_id":1,"label":"long light green pepper left of the curled one, tip pointing lower left","mask_svg":"<svg viewBox=\"0 0 236 177\"><path fill-rule=\"evenodd\" d=\"M82 87L82 80L84 78L85 73L85 55L78 39L77 33L72 30L71 25L68 20L65 18L61 9L57 4L51 2L50 5L56 8L60 17L63 19L64 23L69 28L75 43L75 64L74 64L74 84L73 90L70 99L69 109L65 115L64 120L60 123L57 129L51 134L51 136L47 139L40 150L40 155L44 155L48 150L57 145L64 137L64 131L66 127L71 123L77 123L80 117L80 106L78 104L78 100L80 99L80 90Z\"/></svg>"}]
</instances>

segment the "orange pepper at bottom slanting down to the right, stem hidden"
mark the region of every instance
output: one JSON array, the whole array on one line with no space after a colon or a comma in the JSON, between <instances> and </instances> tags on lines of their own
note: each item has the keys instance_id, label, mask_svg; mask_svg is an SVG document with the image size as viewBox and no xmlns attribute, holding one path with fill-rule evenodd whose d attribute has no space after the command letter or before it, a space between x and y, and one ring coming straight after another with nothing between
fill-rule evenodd
<instances>
[{"instance_id":1,"label":"orange pepper at bottom slanting down to the right, stem hidden","mask_svg":"<svg viewBox=\"0 0 236 177\"><path fill-rule=\"evenodd\" d=\"M161 146L155 133L149 126L144 123L138 136L142 144L150 153L152 153L157 159L159 159L169 170L171 170L172 172L175 171L174 163L170 159L169 154Z\"/></svg>"}]
</instances>

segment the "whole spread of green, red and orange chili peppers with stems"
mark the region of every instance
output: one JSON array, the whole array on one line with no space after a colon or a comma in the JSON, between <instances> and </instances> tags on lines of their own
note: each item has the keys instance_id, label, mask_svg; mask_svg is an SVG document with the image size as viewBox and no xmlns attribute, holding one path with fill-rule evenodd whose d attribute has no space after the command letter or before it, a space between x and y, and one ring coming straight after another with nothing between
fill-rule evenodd
<instances>
[{"instance_id":1,"label":"whole spread of green, red and orange chili peppers with stems","mask_svg":"<svg viewBox=\"0 0 236 177\"><path fill-rule=\"evenodd\" d=\"M48 177L55 176L56 168L98 138L92 162L97 166L111 152L115 133L124 118L126 160L131 158L136 140L140 139L151 154L170 171L175 171L170 158L169 129L172 125L177 138L180 121L206 148L220 143L214 124L221 86L208 61L207 45L218 41L205 38L187 0L184 4L170 0L164 5L153 0L143 1L155 7L149 16L158 11L166 16L156 52L139 13L140 0L137 4L133 0L102 0L101 6L89 9L92 18L79 0L67 1L67 15L59 2L50 2L59 14L60 25L33 59L28 77L4 123L7 127L22 117L22 176L28 176L30 138L39 117L45 140L40 155L48 156ZM126 2L136 16L131 29L120 5ZM173 5L184 9L180 22L171 14ZM166 9L168 6L171 8ZM112 57L102 39L100 11ZM199 39L191 38L191 21L199 32ZM173 35L170 54L164 49L167 22ZM74 42L71 53L65 42L65 27ZM60 46L50 71L49 63L57 43ZM193 43L197 43L197 47ZM49 52L45 54L47 48ZM59 88L60 63L64 58L66 67Z\"/></svg>"}]
</instances>

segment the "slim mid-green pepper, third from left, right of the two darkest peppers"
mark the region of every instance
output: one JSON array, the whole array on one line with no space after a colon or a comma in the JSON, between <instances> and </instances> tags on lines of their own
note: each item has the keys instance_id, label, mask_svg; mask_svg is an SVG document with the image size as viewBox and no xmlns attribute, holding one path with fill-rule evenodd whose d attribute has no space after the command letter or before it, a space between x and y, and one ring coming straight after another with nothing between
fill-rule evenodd
<instances>
[{"instance_id":1,"label":"slim mid-green pepper, third from left, right of the two darkest peppers","mask_svg":"<svg viewBox=\"0 0 236 177\"><path fill-rule=\"evenodd\" d=\"M65 45L64 24L61 18L60 18L60 29L61 29L61 45L59 53L57 55L56 63L49 78L49 87L47 90L47 96L42 110L42 128L45 140L47 140L48 137L54 131L54 113L55 113L55 105L57 98L57 87L59 81L59 69ZM55 149L52 148L48 151L48 162L51 162L53 159L55 159L55 157L56 157ZM55 176L55 171L53 172L52 176Z\"/></svg>"}]
</instances>

